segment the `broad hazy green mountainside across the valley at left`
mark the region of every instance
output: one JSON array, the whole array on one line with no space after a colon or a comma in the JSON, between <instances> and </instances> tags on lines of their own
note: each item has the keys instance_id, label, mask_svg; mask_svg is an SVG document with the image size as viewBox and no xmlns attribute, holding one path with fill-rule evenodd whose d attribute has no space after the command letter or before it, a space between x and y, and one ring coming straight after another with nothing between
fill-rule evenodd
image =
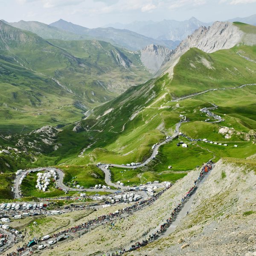
<instances>
[{"instance_id":1,"label":"broad hazy green mountainside across the valley at left","mask_svg":"<svg viewBox=\"0 0 256 256\"><path fill-rule=\"evenodd\" d=\"M88 108L150 76L138 54L109 43L48 42L2 21L0 28L0 120L4 132L72 123Z\"/></svg>"}]
</instances>

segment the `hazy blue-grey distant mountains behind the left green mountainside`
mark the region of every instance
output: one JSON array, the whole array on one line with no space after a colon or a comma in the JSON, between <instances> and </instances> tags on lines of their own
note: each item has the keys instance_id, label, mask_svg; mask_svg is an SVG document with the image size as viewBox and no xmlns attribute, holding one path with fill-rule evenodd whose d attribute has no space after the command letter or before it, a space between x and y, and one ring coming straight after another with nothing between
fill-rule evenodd
<instances>
[{"instance_id":1,"label":"hazy blue-grey distant mountains behind the left green mountainside","mask_svg":"<svg viewBox=\"0 0 256 256\"><path fill-rule=\"evenodd\" d=\"M5 23L8 23L4 21ZM58 20L50 25L37 21L24 21L8 23L18 29L33 32L44 39L61 39L61 40L84 40L96 39L109 42L117 47L125 47L130 50L140 50L149 44L160 44L170 49L174 49L178 42L171 40L157 40L140 35L127 29L114 28L97 28L88 29L83 26Z\"/></svg>"}]
</instances>

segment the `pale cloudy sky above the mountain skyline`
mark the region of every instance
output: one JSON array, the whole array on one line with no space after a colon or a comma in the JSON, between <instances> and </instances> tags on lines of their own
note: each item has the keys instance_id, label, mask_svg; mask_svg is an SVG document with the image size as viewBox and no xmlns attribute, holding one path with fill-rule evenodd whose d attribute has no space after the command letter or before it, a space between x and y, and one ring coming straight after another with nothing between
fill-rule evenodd
<instances>
[{"instance_id":1,"label":"pale cloudy sky above the mountain skyline","mask_svg":"<svg viewBox=\"0 0 256 256\"><path fill-rule=\"evenodd\" d=\"M256 0L0 0L8 22L67 20L88 28L135 20L228 20L256 14Z\"/></svg>"}]
</instances>

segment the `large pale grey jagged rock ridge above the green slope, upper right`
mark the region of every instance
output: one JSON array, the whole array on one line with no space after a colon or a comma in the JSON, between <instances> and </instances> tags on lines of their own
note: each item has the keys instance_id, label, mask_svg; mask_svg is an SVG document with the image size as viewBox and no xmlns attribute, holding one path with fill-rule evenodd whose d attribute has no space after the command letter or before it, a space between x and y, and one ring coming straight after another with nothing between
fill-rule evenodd
<instances>
[{"instance_id":1,"label":"large pale grey jagged rock ridge above the green slope, upper right","mask_svg":"<svg viewBox=\"0 0 256 256\"><path fill-rule=\"evenodd\" d=\"M215 52L220 49L230 49L241 42L243 35L244 32L230 22L217 21L210 27L202 26L183 40L179 46L166 57L161 71L171 73L169 67L192 47L196 47L207 53Z\"/></svg>"}]
</instances>

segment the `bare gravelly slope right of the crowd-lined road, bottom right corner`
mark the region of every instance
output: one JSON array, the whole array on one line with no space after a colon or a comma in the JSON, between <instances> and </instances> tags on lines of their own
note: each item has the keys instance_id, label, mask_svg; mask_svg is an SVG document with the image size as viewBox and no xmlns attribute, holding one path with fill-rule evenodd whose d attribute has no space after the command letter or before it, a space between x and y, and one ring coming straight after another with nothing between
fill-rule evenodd
<instances>
[{"instance_id":1,"label":"bare gravelly slope right of the crowd-lined road, bottom right corner","mask_svg":"<svg viewBox=\"0 0 256 256\"><path fill-rule=\"evenodd\" d=\"M255 255L255 190L255 162L218 161L176 231L128 255Z\"/></svg>"}]
</instances>

